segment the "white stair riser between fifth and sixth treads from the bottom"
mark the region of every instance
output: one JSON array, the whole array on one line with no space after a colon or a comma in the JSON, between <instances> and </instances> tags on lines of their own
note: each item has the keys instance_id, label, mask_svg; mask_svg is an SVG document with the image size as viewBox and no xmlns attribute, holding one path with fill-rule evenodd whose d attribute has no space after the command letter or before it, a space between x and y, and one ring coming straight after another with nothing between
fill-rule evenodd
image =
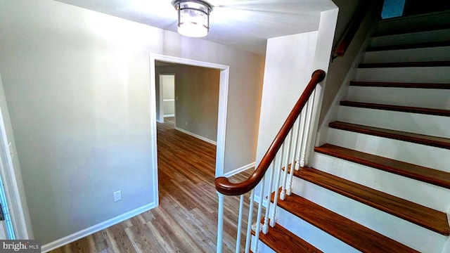
<instances>
[{"instance_id":1,"label":"white stair riser between fifth and sixth treads from the bottom","mask_svg":"<svg viewBox=\"0 0 450 253\"><path fill-rule=\"evenodd\" d=\"M450 138L450 117L340 106L342 122Z\"/></svg>"}]
</instances>

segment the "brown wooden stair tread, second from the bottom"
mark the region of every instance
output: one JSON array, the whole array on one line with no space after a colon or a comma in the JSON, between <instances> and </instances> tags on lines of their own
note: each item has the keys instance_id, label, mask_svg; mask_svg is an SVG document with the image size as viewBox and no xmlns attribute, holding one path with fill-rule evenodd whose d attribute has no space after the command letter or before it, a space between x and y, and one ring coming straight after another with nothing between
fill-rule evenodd
<instances>
[{"instance_id":1,"label":"brown wooden stair tread, second from the bottom","mask_svg":"<svg viewBox=\"0 0 450 253\"><path fill-rule=\"evenodd\" d=\"M286 196L278 206L361 252L417 252L299 195Z\"/></svg>"}]
</instances>

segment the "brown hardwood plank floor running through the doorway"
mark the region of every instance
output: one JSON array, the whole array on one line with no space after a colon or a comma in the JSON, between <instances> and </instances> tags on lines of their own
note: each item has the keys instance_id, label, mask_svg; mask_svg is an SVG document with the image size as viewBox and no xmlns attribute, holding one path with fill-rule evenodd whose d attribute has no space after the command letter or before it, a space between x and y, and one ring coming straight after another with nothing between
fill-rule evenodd
<instances>
[{"instance_id":1,"label":"brown hardwood plank floor running through the doorway","mask_svg":"<svg viewBox=\"0 0 450 253\"><path fill-rule=\"evenodd\" d=\"M166 120L158 123L160 205L53 253L216 251L216 147L176 131L174 118ZM243 181L251 171L233 176L232 180ZM224 252L233 252L236 244L238 202L238 197L225 197ZM248 202L245 205L248 209ZM247 220L245 215L243 220Z\"/></svg>"}]
</instances>

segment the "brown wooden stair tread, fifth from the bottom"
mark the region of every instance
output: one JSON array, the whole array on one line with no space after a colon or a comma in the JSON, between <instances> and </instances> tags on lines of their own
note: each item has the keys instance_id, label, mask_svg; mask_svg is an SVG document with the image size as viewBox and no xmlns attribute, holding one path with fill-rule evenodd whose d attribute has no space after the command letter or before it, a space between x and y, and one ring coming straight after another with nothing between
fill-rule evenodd
<instances>
[{"instance_id":1,"label":"brown wooden stair tread, fifth from the bottom","mask_svg":"<svg viewBox=\"0 0 450 253\"><path fill-rule=\"evenodd\" d=\"M356 133L361 134L370 134L373 136L392 138L399 141L409 141L411 143L418 143L423 145L430 145L437 148L450 149L450 138L427 136L425 134L413 134L405 131L382 129L375 126L364 126L360 124L352 124L339 121L330 122L330 124L328 125L334 129L354 131Z\"/></svg>"}]
</instances>

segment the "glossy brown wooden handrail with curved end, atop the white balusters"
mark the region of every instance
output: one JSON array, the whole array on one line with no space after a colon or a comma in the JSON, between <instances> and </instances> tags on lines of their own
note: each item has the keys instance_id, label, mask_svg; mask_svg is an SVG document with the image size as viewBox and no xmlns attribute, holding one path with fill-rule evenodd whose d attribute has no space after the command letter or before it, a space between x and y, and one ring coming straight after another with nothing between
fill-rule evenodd
<instances>
[{"instance_id":1,"label":"glossy brown wooden handrail with curved end, atop the white balusters","mask_svg":"<svg viewBox=\"0 0 450 253\"><path fill-rule=\"evenodd\" d=\"M317 84L319 84L319 82L322 82L324 78L325 71L323 70L315 70L312 73L311 80L309 81L306 89L304 89L302 96L300 96L300 98L297 100L297 103L295 103L293 110L288 116L288 119L286 119L283 126L281 126L281 129L275 136L274 141L272 141L269 149L266 151L266 154L264 155L264 157L262 157L261 162L259 162L257 169L253 171L252 175L250 175L248 179L240 183L231 183L226 177L220 176L214 180L214 184L219 193L222 193L224 195L242 195L244 193L248 193L250 190L257 186L259 181L262 180L262 177L266 173L267 168L269 168L269 165L274 160L276 153L278 153L278 150L283 144L286 136L288 136L290 129L293 128L295 120L297 120L297 117L302 112L304 105L306 105L309 97L311 96L311 93L314 91L314 89L316 89Z\"/></svg>"}]
</instances>

